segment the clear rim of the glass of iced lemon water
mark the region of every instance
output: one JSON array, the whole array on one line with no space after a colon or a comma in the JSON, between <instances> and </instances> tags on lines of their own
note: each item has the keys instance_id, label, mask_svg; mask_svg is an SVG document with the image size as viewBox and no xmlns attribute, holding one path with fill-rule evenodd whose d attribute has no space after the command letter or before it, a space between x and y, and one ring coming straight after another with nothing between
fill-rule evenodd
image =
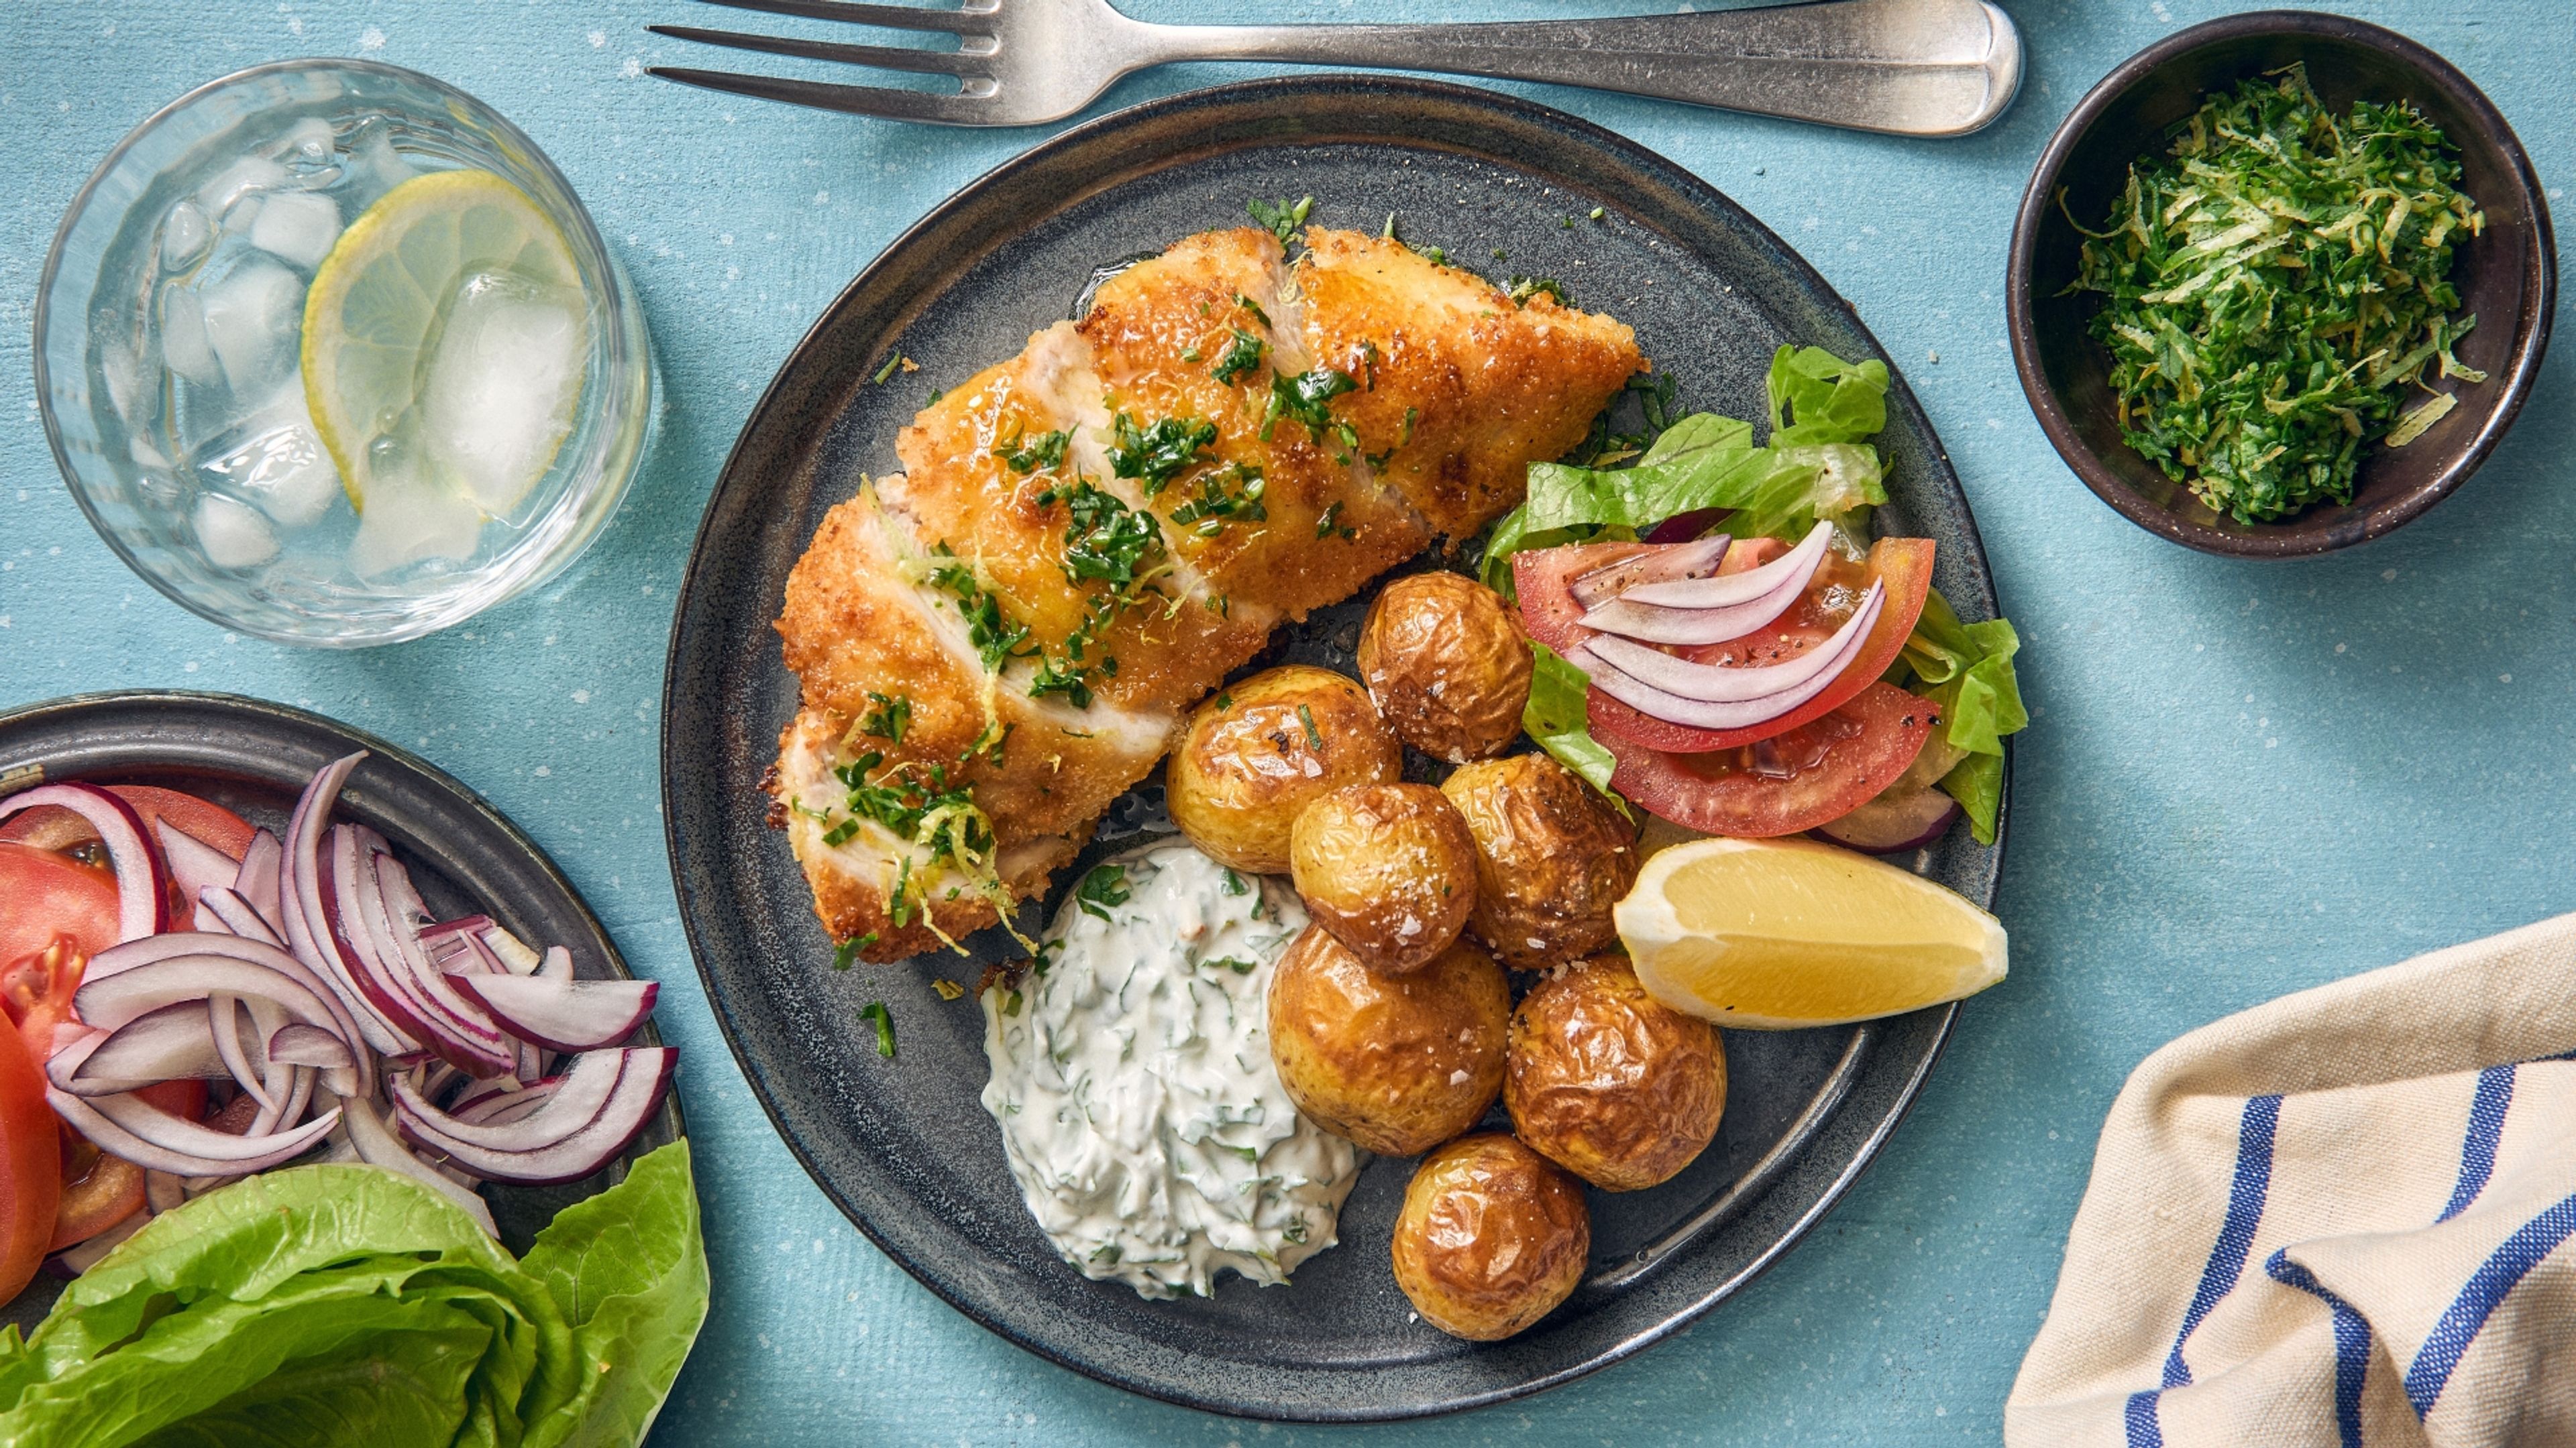
<instances>
[{"instance_id":1,"label":"clear rim of the glass of iced lemon water","mask_svg":"<svg viewBox=\"0 0 2576 1448\"><path fill-rule=\"evenodd\" d=\"M608 505L600 508L598 518L590 520L587 526L574 528L564 541L559 541L551 557L541 557L538 564L528 569L526 577L515 580L507 590L484 598L471 608L466 608L464 613L453 616L422 613L415 618L404 618L399 626L392 629L314 636L314 634L265 629L255 621L234 618L209 603L188 598L173 580L162 577L155 569L147 569L142 559L134 557L134 549L129 549L124 538L118 538L116 531L106 523L98 505L90 502L90 495L80 482L80 472L72 466L72 453L70 446L64 443L62 423L54 417L54 379L52 368L46 366L46 350L44 350L46 327L54 312L54 283L62 276L64 245L72 240L72 227L80 224L80 219L90 211L90 204L98 198L98 188L108 180L111 173L116 173L116 167L126 160L126 155L137 144L142 144L144 137L157 131L162 124L167 124L188 106L196 106L222 90L232 90L245 82L265 80L270 75L296 75L296 72L379 75L402 80L407 85L422 85L453 100L464 100L492 126L492 131L502 142L518 147L523 165L528 165L531 170L551 180L564 196L569 196L572 214L551 219L572 232L572 245L577 250L587 245L587 250L600 260L600 278L598 278L603 286L600 312L608 317L603 332L608 335L611 348L636 353L634 366L641 371L644 379L641 386L644 394L639 399L639 407L644 410L647 425L652 423L654 363L652 363L649 330L644 327L641 319L644 317L641 299L634 294L634 283L618 265L616 252L608 250L608 237L600 234L598 222L590 216L590 206L582 201L580 191L572 188L572 178L567 178L562 167L554 165L554 157L549 157L546 149L538 147L533 137L528 137L528 131L518 129L518 124L510 121L510 116L502 116L500 108L495 108L482 95L474 95L461 85L453 85L448 80L440 80L435 75L404 64L386 64L381 59L345 59L345 57L270 59L216 75L214 80L191 85L185 93L170 98L149 116L137 121L131 129L126 129L126 134L118 137L113 147L108 147L108 155L98 160L88 180L80 183L80 191L72 193L72 201L64 204L62 219L54 222L54 237L52 242L46 242L44 250L44 268L36 271L36 304L31 307L28 314L28 353L36 371L36 417L44 423L44 441L54 451L54 472L62 474L62 487L64 492L72 495L72 502L80 505L80 515L88 518L90 531L98 533L98 541L106 544L111 554L116 554L116 562L126 564L126 572L152 585L152 590L167 598L170 603L178 603L188 613L196 613L198 618L206 618L219 629L232 629L237 634L247 634L252 639L265 639L276 644L319 647L319 649L368 649L379 644L404 644L428 634L438 634L443 629L453 629L456 624L464 624L477 613L500 608L502 603L510 603L513 598L520 598L528 590L549 582L551 577L572 567L572 562L577 562L585 551L590 551L590 544L598 541L598 536L605 531L608 518L616 513L616 502L623 500L626 490L634 484L634 474L641 469L644 461L641 438L634 448L634 456L626 459L623 469L616 469L621 477L613 479ZM634 314L634 327L626 325L629 312ZM634 332L631 338L626 335L629 330ZM611 451L616 448L611 446Z\"/></svg>"}]
</instances>

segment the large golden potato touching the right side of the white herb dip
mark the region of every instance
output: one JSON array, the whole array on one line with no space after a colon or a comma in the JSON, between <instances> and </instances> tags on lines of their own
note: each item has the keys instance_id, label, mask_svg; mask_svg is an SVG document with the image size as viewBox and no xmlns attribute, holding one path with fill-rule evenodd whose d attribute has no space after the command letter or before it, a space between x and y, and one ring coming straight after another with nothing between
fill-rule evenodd
<instances>
[{"instance_id":1,"label":"large golden potato touching the right side of the white herb dip","mask_svg":"<svg viewBox=\"0 0 2576 1448\"><path fill-rule=\"evenodd\" d=\"M1502 1092L1510 1028L1512 987L1466 940L1391 976L1309 925L1270 974L1270 1064L1288 1100L1381 1157L1476 1126Z\"/></svg>"}]
</instances>

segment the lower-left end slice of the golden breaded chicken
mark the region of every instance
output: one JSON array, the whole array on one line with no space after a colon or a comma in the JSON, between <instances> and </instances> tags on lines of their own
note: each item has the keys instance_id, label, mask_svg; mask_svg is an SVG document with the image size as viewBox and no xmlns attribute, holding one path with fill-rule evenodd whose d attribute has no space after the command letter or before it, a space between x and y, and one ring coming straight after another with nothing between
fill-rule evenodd
<instances>
[{"instance_id":1,"label":"lower-left end slice of the golden breaded chicken","mask_svg":"<svg viewBox=\"0 0 2576 1448\"><path fill-rule=\"evenodd\" d=\"M927 564L860 487L824 515L778 616L804 711L770 791L824 925L876 933L871 958L935 948L1043 889L1177 727L984 672L958 600L920 582Z\"/></svg>"}]
</instances>

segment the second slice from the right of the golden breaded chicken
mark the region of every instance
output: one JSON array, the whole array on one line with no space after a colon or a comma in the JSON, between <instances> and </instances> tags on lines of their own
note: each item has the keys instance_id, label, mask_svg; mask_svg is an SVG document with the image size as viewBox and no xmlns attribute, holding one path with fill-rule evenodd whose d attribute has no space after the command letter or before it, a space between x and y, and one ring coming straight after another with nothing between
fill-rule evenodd
<instances>
[{"instance_id":1,"label":"second slice from the right of the golden breaded chicken","mask_svg":"<svg viewBox=\"0 0 2576 1448\"><path fill-rule=\"evenodd\" d=\"M1164 441L1157 461L1206 459L1159 477L1128 464L1172 546L1229 608L1303 618L1419 554L1430 531L1370 482L1329 423L1273 415L1273 381L1293 386L1309 371L1285 281L1270 232L1206 232L1103 281L1082 335L1118 417L1113 433ZM1195 451L1172 441L1195 425L1213 428ZM1139 451L1154 456L1128 456Z\"/></svg>"}]
</instances>

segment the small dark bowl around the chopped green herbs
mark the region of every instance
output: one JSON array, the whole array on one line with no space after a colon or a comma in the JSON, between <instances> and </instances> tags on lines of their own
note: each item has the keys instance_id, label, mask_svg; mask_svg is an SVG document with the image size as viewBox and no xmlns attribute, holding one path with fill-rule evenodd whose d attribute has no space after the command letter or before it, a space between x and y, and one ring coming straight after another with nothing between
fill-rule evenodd
<instances>
[{"instance_id":1,"label":"small dark bowl around the chopped green herbs","mask_svg":"<svg viewBox=\"0 0 2576 1448\"><path fill-rule=\"evenodd\" d=\"M2308 82L2326 106L2349 111L2354 100L2414 100L2460 147L2460 188L2486 211L2486 234L2458 247L2452 260L2460 309L2478 317L2458 356L2486 371L2486 381L2460 384L2452 415L2414 443L2370 448L2349 505L2308 508L2280 523L2236 523L2120 441L2110 353L2087 332L2102 299L2066 291L2081 245L2066 209L2087 224L2107 216L2128 186L2128 165L2161 152L2166 126L2197 111L2213 90L2290 62L2308 62ZM2058 188L2066 188L2066 209L2058 206ZM2378 538L2478 472L2540 374L2558 296L2558 247L2522 142L2450 62L2396 31L2344 15L2259 10L2177 31L2084 95L2048 139L2022 196L2004 296L2022 392L2084 487L2130 523L2177 544L2287 559Z\"/></svg>"}]
</instances>

